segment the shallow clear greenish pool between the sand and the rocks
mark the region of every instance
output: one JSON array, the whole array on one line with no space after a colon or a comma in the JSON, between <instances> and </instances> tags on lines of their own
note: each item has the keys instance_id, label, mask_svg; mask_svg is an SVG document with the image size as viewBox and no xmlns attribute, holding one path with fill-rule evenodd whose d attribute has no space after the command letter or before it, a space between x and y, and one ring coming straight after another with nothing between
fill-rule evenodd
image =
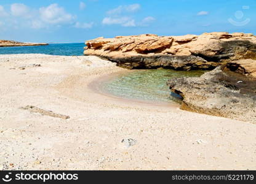
<instances>
[{"instance_id":1,"label":"shallow clear greenish pool between the sand and the rocks","mask_svg":"<svg viewBox=\"0 0 256 184\"><path fill-rule=\"evenodd\" d=\"M118 74L103 84L107 93L127 99L151 102L178 102L166 85L174 77L199 77L206 71L175 71L172 69L134 70Z\"/></svg>"}]
</instances>

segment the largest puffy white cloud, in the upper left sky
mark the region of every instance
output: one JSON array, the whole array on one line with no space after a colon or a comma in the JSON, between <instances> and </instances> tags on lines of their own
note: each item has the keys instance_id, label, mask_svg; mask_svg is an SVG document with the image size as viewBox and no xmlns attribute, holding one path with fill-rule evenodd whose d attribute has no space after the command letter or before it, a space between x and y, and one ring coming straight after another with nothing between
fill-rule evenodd
<instances>
[{"instance_id":1,"label":"largest puffy white cloud, in the upper left sky","mask_svg":"<svg viewBox=\"0 0 256 184\"><path fill-rule=\"evenodd\" d=\"M41 7L39 13L42 21L53 25L71 23L75 18L70 13L66 13L65 9L58 6L58 4L50 4L50 6Z\"/></svg>"}]
</instances>

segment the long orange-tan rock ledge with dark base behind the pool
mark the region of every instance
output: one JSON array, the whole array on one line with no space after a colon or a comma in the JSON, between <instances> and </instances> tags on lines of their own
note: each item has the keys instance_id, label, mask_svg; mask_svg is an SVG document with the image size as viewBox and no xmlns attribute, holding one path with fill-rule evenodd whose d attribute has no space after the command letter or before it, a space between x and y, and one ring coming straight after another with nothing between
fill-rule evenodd
<instances>
[{"instance_id":1,"label":"long orange-tan rock ledge with dark base behind the pool","mask_svg":"<svg viewBox=\"0 0 256 184\"><path fill-rule=\"evenodd\" d=\"M100 56L129 69L214 69L236 59L256 59L256 37L244 33L99 37L86 45L84 55Z\"/></svg>"}]
</instances>

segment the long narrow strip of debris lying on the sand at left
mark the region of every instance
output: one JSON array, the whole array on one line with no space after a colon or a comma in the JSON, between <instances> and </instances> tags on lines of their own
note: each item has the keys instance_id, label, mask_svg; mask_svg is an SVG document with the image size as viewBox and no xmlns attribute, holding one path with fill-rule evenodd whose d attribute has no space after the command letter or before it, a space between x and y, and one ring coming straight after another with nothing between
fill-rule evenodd
<instances>
[{"instance_id":1,"label":"long narrow strip of debris lying on the sand at left","mask_svg":"<svg viewBox=\"0 0 256 184\"><path fill-rule=\"evenodd\" d=\"M55 117L55 118L62 118L64 120L70 118L67 115L62 115L60 113L54 113L51 110L40 109L40 108L35 107L33 105L26 105L26 107L20 107L19 109L30 110L30 112L41 113L41 115L46 115L46 116Z\"/></svg>"}]
</instances>

